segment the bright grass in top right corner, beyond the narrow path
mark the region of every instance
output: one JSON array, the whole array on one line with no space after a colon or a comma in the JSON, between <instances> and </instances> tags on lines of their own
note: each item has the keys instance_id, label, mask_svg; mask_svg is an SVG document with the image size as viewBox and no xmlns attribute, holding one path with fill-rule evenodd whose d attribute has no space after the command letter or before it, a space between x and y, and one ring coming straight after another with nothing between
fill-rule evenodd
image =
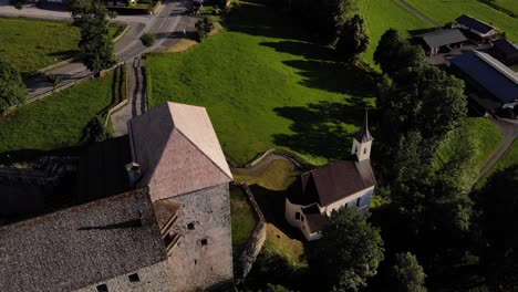
<instances>
[{"instance_id":1,"label":"bright grass in top right corner, beyond the narrow path","mask_svg":"<svg viewBox=\"0 0 518 292\"><path fill-rule=\"evenodd\" d=\"M517 2L511 1L516 7ZM508 39L518 41L518 19L477 0L406 0L406 2L441 24L453 22L462 14L468 14L506 32Z\"/></svg>"}]
</instances>

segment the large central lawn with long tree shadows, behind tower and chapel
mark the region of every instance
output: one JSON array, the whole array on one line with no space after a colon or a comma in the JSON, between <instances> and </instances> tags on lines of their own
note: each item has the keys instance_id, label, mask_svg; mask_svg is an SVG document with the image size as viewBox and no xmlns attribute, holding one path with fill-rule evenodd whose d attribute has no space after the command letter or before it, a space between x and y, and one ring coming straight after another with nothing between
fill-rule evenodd
<instances>
[{"instance_id":1,"label":"large central lawn with long tree shadows, behind tower and chapel","mask_svg":"<svg viewBox=\"0 0 518 292\"><path fill-rule=\"evenodd\" d=\"M343 157L372 103L371 73L333 62L276 9L241 2L228 31L183 53L147 59L151 107L201 105L224 150L246 163L272 147L312 163Z\"/></svg>"}]
</instances>

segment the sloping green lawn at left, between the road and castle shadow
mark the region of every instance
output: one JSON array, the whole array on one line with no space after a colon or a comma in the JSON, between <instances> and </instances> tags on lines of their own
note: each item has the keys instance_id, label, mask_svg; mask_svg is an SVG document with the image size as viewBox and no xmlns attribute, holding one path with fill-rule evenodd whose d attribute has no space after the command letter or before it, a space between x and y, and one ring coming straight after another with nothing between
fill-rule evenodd
<instances>
[{"instance_id":1,"label":"sloping green lawn at left, between the road and castle shadow","mask_svg":"<svg viewBox=\"0 0 518 292\"><path fill-rule=\"evenodd\" d=\"M113 71L0 117L0 153L77 145L87 123L111 105L112 81Z\"/></svg>"}]
</instances>

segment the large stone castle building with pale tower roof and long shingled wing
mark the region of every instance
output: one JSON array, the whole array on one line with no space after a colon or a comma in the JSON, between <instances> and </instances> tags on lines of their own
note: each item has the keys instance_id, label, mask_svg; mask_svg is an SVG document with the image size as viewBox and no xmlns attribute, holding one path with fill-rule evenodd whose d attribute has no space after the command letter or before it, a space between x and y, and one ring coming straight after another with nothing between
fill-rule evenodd
<instances>
[{"instance_id":1,"label":"large stone castle building with pale tower roof and long shingled wing","mask_svg":"<svg viewBox=\"0 0 518 292\"><path fill-rule=\"evenodd\" d=\"M87 202L0 221L0 291L196 291L232 282L232 176L206 109L167 103L130 121L128 133L86 156L102 160L108 147L126 165L80 161L87 170L77 174L80 186L101 184L86 190Z\"/></svg>"}]
</instances>

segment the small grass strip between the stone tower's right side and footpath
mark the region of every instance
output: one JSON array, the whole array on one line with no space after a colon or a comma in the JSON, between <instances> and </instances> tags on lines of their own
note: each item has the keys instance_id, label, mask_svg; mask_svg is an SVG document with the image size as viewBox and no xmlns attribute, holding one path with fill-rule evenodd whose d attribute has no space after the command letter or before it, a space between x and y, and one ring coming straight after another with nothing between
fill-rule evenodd
<instances>
[{"instance_id":1,"label":"small grass strip between the stone tower's right side and footpath","mask_svg":"<svg viewBox=\"0 0 518 292\"><path fill-rule=\"evenodd\" d=\"M232 251L234 258L238 259L241 249L258 222L258 218L247 195L238 187L230 187L230 213L232 225Z\"/></svg>"}]
</instances>

